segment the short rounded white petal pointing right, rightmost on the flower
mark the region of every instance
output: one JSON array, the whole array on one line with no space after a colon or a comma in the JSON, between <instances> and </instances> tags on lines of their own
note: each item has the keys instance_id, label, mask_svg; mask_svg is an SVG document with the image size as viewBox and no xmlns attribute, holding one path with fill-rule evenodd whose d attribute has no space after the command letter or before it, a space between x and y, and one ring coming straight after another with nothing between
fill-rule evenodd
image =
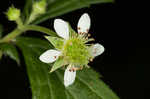
<instances>
[{"instance_id":1,"label":"short rounded white petal pointing right, rightmost on the flower","mask_svg":"<svg viewBox=\"0 0 150 99\"><path fill-rule=\"evenodd\" d=\"M91 54L93 57L96 57L100 54L102 54L104 52L104 47L101 45L101 44L94 44L92 47L91 47Z\"/></svg>"}]
</instances>

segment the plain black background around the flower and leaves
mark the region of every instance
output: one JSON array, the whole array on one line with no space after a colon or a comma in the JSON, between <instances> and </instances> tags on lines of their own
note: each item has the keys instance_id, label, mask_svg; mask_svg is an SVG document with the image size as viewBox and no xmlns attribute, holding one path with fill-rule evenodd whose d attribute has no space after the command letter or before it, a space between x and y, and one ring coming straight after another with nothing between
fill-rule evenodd
<instances>
[{"instance_id":1,"label":"plain black background around the flower and leaves","mask_svg":"<svg viewBox=\"0 0 150 99\"><path fill-rule=\"evenodd\" d=\"M0 23L4 25L5 33L8 33L15 24L7 21L3 12L11 4L23 8L24 1L6 1L0 5ZM118 0L114 4L92 5L90 8L57 17L69 21L74 28L79 17L85 12L89 13L92 20L92 37L106 49L91 66L102 74L105 83L121 99L147 99L146 96L149 94L150 39L144 27L147 23L144 13L146 8L142 6L142 3L138 5ZM53 28L53 20L41 25ZM5 93L0 95L5 95L8 99L31 99L24 62L19 68L15 61L4 56L0 61L0 73L0 86Z\"/></svg>"}]
</instances>

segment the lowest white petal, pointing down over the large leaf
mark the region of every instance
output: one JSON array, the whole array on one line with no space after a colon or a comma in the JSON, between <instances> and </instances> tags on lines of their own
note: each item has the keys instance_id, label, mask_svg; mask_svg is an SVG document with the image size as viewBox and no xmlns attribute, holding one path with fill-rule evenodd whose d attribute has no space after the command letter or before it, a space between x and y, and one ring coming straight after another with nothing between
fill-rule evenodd
<instances>
[{"instance_id":1,"label":"lowest white petal, pointing down over the large leaf","mask_svg":"<svg viewBox=\"0 0 150 99\"><path fill-rule=\"evenodd\" d=\"M65 87L73 84L76 77L76 71L70 71L70 67L67 67L64 74L64 85Z\"/></svg>"}]
</instances>

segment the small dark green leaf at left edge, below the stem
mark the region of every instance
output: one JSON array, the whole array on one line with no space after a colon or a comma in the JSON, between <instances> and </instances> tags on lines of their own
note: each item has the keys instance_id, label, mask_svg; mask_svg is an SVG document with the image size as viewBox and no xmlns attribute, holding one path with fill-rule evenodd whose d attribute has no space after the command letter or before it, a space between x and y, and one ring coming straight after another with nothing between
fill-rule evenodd
<instances>
[{"instance_id":1,"label":"small dark green leaf at left edge, below the stem","mask_svg":"<svg viewBox=\"0 0 150 99\"><path fill-rule=\"evenodd\" d=\"M9 44L9 43L2 43L2 44L0 44L0 50L4 54L8 55L10 58L15 60L18 65L20 64L19 54L14 45Z\"/></svg>"}]
</instances>

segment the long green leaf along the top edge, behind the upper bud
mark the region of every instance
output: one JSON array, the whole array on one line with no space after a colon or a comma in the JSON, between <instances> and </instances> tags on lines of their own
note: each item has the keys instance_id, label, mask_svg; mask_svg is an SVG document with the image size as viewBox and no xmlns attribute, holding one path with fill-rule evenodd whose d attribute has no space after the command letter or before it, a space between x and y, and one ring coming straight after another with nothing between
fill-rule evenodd
<instances>
[{"instance_id":1,"label":"long green leaf along the top edge, behind the upper bud","mask_svg":"<svg viewBox=\"0 0 150 99\"><path fill-rule=\"evenodd\" d=\"M36 0L26 0L26 5L24 8L24 14L26 16L29 16L32 2L34 3L35 1ZM111 2L113 2L113 0L47 0L46 13L37 18L37 20L35 20L33 24L38 24L49 18L60 16L77 9L89 7L91 4Z\"/></svg>"}]
</instances>

